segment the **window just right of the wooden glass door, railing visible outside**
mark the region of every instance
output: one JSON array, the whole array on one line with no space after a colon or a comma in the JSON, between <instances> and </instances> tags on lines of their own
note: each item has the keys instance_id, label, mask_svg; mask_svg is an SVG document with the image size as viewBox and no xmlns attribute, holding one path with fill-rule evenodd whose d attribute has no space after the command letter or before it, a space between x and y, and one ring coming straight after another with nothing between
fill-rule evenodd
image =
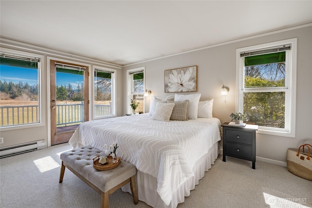
<instances>
[{"instance_id":1,"label":"window just right of the wooden glass door, railing visible outside","mask_svg":"<svg viewBox=\"0 0 312 208\"><path fill-rule=\"evenodd\" d=\"M115 75L116 70L114 69L94 67L94 118L111 117L116 115Z\"/></svg>"}]
</instances>

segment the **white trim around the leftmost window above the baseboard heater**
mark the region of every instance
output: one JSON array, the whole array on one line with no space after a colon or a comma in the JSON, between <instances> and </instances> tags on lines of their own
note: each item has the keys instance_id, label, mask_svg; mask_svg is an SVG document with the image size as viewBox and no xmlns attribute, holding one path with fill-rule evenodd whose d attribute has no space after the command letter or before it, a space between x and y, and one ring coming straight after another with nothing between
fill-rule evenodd
<instances>
[{"instance_id":1,"label":"white trim around the leftmost window above the baseboard heater","mask_svg":"<svg viewBox=\"0 0 312 208\"><path fill-rule=\"evenodd\" d=\"M44 56L39 55L39 54L32 54L28 52L23 52L23 51L17 51L17 50L12 50L12 49L6 49L6 48L1 48L1 52L4 53L11 53L11 54L16 54L16 55L21 55L21 56L27 56L27 57L38 57L40 58L40 64L38 65L38 106L39 106L39 123L31 123L31 124L20 124L16 126L3 126L0 127L0 131L11 131L11 130L18 130L18 129L27 129L27 128L35 128L35 127L41 127L45 125L45 106L44 106L44 96L43 96L43 91L44 91Z\"/></svg>"}]
</instances>

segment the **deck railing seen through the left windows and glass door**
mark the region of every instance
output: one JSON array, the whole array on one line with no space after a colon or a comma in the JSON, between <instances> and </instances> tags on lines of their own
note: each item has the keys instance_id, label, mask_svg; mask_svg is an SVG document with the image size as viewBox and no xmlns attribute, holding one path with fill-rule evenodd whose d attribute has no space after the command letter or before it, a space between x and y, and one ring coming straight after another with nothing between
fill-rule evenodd
<instances>
[{"instance_id":1,"label":"deck railing seen through the left windows and glass door","mask_svg":"<svg viewBox=\"0 0 312 208\"><path fill-rule=\"evenodd\" d=\"M84 121L84 104L57 105L57 126L79 124ZM111 105L95 105L96 115L111 114ZM14 126L20 124L39 123L39 106L0 106L0 125Z\"/></svg>"}]
</instances>

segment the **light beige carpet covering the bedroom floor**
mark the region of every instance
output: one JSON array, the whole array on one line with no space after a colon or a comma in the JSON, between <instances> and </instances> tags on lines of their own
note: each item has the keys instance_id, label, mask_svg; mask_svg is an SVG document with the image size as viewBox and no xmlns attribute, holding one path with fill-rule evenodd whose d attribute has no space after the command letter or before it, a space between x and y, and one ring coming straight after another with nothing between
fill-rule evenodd
<instances>
[{"instance_id":1,"label":"light beige carpet covering the bedroom floor","mask_svg":"<svg viewBox=\"0 0 312 208\"><path fill-rule=\"evenodd\" d=\"M99 194L68 169L59 183L59 154L68 143L0 159L1 208L98 208ZM118 189L110 208L150 208ZM219 155L178 208L311 208L312 181L285 167Z\"/></svg>"}]
</instances>

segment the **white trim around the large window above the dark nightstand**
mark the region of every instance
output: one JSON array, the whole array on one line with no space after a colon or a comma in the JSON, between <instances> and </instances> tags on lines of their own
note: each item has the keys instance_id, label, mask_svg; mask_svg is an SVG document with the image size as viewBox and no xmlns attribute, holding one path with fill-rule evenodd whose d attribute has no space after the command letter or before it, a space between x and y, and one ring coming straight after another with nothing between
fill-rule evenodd
<instances>
[{"instance_id":1,"label":"white trim around the large window above the dark nightstand","mask_svg":"<svg viewBox=\"0 0 312 208\"><path fill-rule=\"evenodd\" d=\"M285 89L286 97L285 102L288 104L285 106L285 129L278 130L270 127L259 127L257 133L270 134L276 136L295 137L296 129L296 72L297 72L297 38L286 39L271 43L265 43L255 46L249 46L236 49L236 112L243 112L243 93L244 93L244 70L241 68L244 65L243 59L240 57L241 52L260 50L263 48L270 48L280 46L284 44L292 44L292 48L288 54L290 67L287 68L286 73L288 79L288 89ZM279 89L280 91L280 89ZM284 90L283 90L284 91ZM254 90L253 92L256 92Z\"/></svg>"}]
</instances>

